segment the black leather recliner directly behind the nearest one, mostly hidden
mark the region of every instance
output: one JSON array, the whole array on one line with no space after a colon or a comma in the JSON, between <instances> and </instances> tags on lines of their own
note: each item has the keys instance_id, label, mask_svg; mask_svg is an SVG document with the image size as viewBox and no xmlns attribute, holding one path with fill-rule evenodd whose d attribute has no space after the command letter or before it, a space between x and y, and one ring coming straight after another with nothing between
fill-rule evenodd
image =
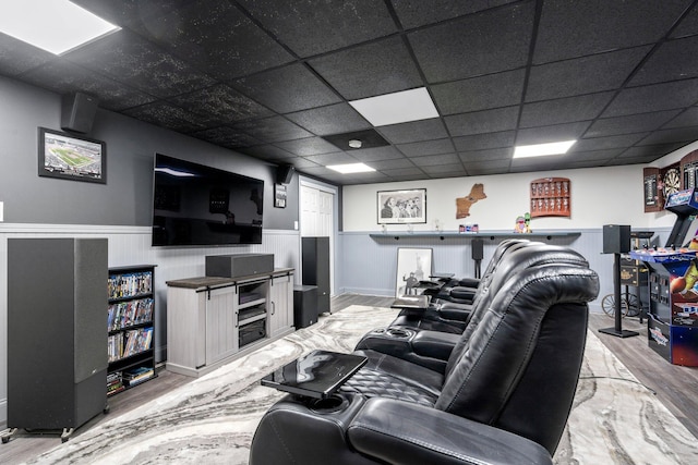
<instances>
[{"instance_id":1,"label":"black leather recliner directly behind the nearest one, mostly hidden","mask_svg":"<svg viewBox=\"0 0 698 465\"><path fill-rule=\"evenodd\" d=\"M420 328L431 331L462 333L479 317L478 308L489 305L496 290L508 277L525 268L545 264L568 264L588 267L586 258L564 246L520 241L508 245L492 271L482 277L472 304L432 304L426 310L402 310L390 326ZM481 310L480 310L481 311Z\"/></svg>"}]
</instances>

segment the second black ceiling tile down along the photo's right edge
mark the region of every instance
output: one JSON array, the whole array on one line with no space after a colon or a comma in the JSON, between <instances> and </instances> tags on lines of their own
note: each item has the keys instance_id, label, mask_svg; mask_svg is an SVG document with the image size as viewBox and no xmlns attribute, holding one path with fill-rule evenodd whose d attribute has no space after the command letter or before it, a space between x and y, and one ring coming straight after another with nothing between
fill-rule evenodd
<instances>
[{"instance_id":1,"label":"second black ceiling tile down along the photo's right edge","mask_svg":"<svg viewBox=\"0 0 698 465\"><path fill-rule=\"evenodd\" d=\"M698 76L698 36L663 42L638 70L629 85L663 83Z\"/></svg>"}]
</instances>

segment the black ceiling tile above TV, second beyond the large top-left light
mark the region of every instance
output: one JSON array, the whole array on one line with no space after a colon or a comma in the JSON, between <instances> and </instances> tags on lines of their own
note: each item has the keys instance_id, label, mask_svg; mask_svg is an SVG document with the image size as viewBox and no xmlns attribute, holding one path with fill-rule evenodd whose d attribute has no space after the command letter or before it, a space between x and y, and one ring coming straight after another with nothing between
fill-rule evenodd
<instances>
[{"instance_id":1,"label":"black ceiling tile above TV, second beyond the large top-left light","mask_svg":"<svg viewBox=\"0 0 698 465\"><path fill-rule=\"evenodd\" d=\"M226 123L274 114L267 108L225 84L180 95L171 98L170 101L193 113L209 115L210 119Z\"/></svg>"}]
</instances>

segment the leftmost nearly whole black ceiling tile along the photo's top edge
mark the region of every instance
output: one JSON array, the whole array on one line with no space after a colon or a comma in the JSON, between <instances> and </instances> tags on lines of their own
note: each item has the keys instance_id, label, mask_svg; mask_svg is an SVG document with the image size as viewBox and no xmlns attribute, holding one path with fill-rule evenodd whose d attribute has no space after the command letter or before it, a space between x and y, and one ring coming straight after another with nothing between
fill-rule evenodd
<instances>
[{"instance_id":1,"label":"leftmost nearly whole black ceiling tile along the photo's top edge","mask_svg":"<svg viewBox=\"0 0 698 465\"><path fill-rule=\"evenodd\" d=\"M185 8L149 19L135 30L224 81L294 60L281 45L227 1L189 2Z\"/></svg>"}]
</instances>

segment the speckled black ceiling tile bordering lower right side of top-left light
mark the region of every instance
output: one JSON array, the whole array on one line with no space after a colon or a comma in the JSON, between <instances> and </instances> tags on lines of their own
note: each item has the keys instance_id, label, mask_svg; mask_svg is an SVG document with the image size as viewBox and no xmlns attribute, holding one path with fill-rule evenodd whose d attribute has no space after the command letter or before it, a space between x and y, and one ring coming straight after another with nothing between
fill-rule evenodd
<instances>
[{"instance_id":1,"label":"speckled black ceiling tile bordering lower right side of top-left light","mask_svg":"<svg viewBox=\"0 0 698 465\"><path fill-rule=\"evenodd\" d=\"M182 60L125 30L63 56L67 60L158 97L185 94L214 84Z\"/></svg>"}]
</instances>

